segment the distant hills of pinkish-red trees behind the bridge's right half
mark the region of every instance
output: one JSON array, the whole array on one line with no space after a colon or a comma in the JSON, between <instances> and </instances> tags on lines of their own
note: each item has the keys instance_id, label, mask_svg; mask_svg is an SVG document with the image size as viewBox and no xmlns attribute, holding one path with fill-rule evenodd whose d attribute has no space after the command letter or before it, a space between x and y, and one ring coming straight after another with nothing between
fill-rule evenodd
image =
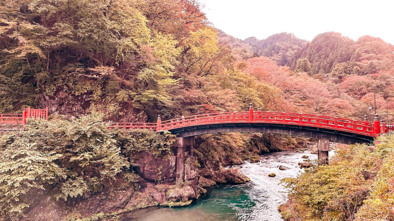
<instances>
[{"instance_id":1,"label":"distant hills of pinkish-red trees behind the bridge's right half","mask_svg":"<svg viewBox=\"0 0 394 221\"><path fill-rule=\"evenodd\" d=\"M260 41L251 37L243 42L269 58L247 60L246 72L281 88L286 101L301 106L299 111L361 119L364 114L370 116L367 109L374 106L375 88L377 112L387 121L388 108L388 120L392 120L391 44L370 36L355 42L335 32L322 33L312 42L287 33ZM284 67L272 68L274 63Z\"/></svg>"}]
</instances>

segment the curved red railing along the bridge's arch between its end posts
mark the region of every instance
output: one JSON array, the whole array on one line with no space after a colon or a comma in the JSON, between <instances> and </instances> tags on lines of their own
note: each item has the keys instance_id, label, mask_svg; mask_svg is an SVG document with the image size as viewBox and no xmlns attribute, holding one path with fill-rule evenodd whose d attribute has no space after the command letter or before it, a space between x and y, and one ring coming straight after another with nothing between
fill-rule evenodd
<instances>
[{"instance_id":1,"label":"curved red railing along the bridge's arch between its end posts","mask_svg":"<svg viewBox=\"0 0 394 221\"><path fill-rule=\"evenodd\" d=\"M194 125L208 125L218 123L275 123L288 125L305 125L311 127L334 129L338 131L353 132L357 134L376 136L374 124L336 118L316 114L301 114L289 112L224 112L214 114L201 114L163 121L157 125L159 130L171 130Z\"/></svg>"}]
</instances>

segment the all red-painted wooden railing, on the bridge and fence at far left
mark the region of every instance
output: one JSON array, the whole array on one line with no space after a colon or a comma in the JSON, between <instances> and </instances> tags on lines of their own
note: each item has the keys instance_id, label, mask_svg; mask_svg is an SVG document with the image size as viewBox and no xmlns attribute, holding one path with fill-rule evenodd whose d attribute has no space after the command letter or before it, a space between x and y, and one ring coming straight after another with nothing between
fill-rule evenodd
<instances>
[{"instance_id":1,"label":"all red-painted wooden railing, on the bridge and fence at far left","mask_svg":"<svg viewBox=\"0 0 394 221\"><path fill-rule=\"evenodd\" d=\"M48 108L31 109L30 107L22 114L0 114L0 123L26 123L26 119L34 117L48 120ZM394 131L394 125L384 125L377 129L377 123L351 120L346 118L336 118L317 114L302 114L291 112L266 112L253 111L245 112L224 112L212 114L200 114L161 121L157 123L110 123L109 128L120 127L123 129L148 129L152 131L179 129L183 127L210 125L223 123L272 123L284 125L300 125L345 131L365 136L377 137L379 131Z\"/></svg>"}]
</instances>

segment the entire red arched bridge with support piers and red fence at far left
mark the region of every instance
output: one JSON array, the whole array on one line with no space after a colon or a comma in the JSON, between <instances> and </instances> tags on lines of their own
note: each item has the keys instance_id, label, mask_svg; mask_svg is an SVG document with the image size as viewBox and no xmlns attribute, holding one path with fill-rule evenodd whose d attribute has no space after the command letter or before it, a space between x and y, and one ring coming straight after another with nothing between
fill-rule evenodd
<instances>
[{"instance_id":1,"label":"entire red arched bridge with support piers and red fence at far left","mask_svg":"<svg viewBox=\"0 0 394 221\"><path fill-rule=\"evenodd\" d=\"M26 123L27 118L48 120L48 108L30 109L22 114L0 114L0 123ZM156 132L163 130L177 134L175 146L178 147L178 158L192 156L194 136L221 133L277 133L302 136L318 140L318 158L320 163L328 159L329 142L342 144L371 143L381 133L394 130L394 125L385 125L376 114L374 122L323 116L317 114L301 114L291 112L267 112L253 110L252 104L245 112L224 112L201 114L161 121L160 115L156 123L110 123L110 128L148 129ZM184 160L184 159L183 159ZM178 169L177 169L178 171ZM180 174L184 174L180 169ZM184 177L184 176L183 176ZM180 175L182 178L182 175ZM183 178L182 178L183 179Z\"/></svg>"}]
</instances>

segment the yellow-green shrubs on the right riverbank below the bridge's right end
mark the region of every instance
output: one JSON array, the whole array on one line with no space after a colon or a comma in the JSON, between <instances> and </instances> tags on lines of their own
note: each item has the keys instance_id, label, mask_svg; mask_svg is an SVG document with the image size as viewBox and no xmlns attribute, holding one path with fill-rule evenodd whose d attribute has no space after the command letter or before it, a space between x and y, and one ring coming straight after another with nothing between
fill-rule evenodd
<instances>
[{"instance_id":1,"label":"yellow-green shrubs on the right riverbank below the bridge's right end","mask_svg":"<svg viewBox=\"0 0 394 221\"><path fill-rule=\"evenodd\" d=\"M289 188L286 220L394 220L394 135L341 146L328 166L282 180Z\"/></svg>"}]
</instances>

